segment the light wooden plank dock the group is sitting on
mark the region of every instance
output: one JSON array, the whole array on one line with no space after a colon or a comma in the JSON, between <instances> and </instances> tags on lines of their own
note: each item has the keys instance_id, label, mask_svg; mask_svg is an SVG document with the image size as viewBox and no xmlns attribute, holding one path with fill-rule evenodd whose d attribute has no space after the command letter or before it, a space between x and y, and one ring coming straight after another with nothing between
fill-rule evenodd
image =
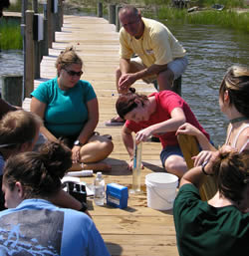
<instances>
[{"instance_id":1,"label":"light wooden plank dock the group is sitting on","mask_svg":"<svg viewBox=\"0 0 249 256\"><path fill-rule=\"evenodd\" d=\"M104 173L106 183L116 182L130 187L132 174L126 169L128 155L122 141L122 128L105 126L105 122L116 115L115 103L118 98L115 72L119 65L119 34L115 25L103 18L65 15L62 32L56 32L56 42L49 50L49 56L43 58L41 79L35 81L35 87L56 76L55 61L60 52L71 45L84 61L85 73L82 79L93 85L99 99L100 123L97 130L113 136L115 149L107 159L113 169ZM146 95L154 92L152 86L142 82L137 82L135 88L137 92ZM26 99L24 109L29 109L29 103L30 100ZM88 200L90 213L112 255L178 255L172 211L157 211L146 206L144 179L147 173L163 171L159 159L160 150L160 143L143 143L143 193L129 195L126 209L96 206L92 199ZM94 177L84 180L93 183Z\"/></svg>"}]
</instances>

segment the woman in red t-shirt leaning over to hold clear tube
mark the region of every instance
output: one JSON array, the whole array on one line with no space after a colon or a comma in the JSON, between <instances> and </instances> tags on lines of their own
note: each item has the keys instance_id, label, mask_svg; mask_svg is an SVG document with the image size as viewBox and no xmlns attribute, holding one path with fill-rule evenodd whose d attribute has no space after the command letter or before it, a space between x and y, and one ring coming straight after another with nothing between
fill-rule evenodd
<instances>
[{"instance_id":1,"label":"woman in red t-shirt leaning over to hold clear tube","mask_svg":"<svg viewBox=\"0 0 249 256\"><path fill-rule=\"evenodd\" d=\"M126 120L123 128L124 145L132 166L133 138L136 142L146 141L150 135L157 136L162 144L160 158L166 171L181 177L187 170L175 131L185 122L198 128L209 139L207 132L200 126L186 102L171 91L153 93L149 97L127 93L117 101L116 109Z\"/></svg>"}]
</instances>

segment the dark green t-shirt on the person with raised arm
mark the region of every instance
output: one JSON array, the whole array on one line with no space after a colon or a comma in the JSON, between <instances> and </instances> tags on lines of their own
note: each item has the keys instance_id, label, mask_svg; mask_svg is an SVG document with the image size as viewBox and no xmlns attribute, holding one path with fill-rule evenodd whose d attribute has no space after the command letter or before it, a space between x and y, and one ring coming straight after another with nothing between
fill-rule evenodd
<instances>
[{"instance_id":1,"label":"dark green t-shirt on the person with raised arm","mask_svg":"<svg viewBox=\"0 0 249 256\"><path fill-rule=\"evenodd\" d=\"M249 213L213 207L192 184L180 187L173 206L180 256L248 256Z\"/></svg>"}]
</instances>

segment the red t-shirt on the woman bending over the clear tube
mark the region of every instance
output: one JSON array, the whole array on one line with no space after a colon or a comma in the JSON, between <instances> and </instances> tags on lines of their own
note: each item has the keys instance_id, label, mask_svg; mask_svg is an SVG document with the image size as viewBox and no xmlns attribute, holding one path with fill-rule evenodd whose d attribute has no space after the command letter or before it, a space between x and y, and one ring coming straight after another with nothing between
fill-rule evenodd
<instances>
[{"instance_id":1,"label":"red t-shirt on the woman bending over the clear tube","mask_svg":"<svg viewBox=\"0 0 249 256\"><path fill-rule=\"evenodd\" d=\"M156 101L156 110L150 116L148 121L134 123L132 121L126 121L125 127L129 128L130 130L137 132L142 128L148 128L152 125L167 121L171 119L171 112L175 108L180 108L183 110L186 122L201 130L202 133L206 135L208 139L209 134L206 132L204 128L200 126L197 119L195 118L194 114L192 113L191 109L187 105L187 103L179 97L177 94L171 91L162 91L159 93L153 93L149 97L154 96ZM175 130L176 131L176 130ZM166 145L176 145L178 144L177 137L175 135L175 131L168 131L164 134L153 134L154 136L159 137L162 147L164 148Z\"/></svg>"}]
</instances>

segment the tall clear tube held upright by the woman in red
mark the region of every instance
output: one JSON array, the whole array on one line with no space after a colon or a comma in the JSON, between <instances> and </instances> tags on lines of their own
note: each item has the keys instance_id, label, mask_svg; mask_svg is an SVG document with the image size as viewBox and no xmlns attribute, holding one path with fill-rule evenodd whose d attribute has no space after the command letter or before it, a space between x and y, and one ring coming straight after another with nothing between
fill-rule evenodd
<instances>
[{"instance_id":1,"label":"tall clear tube held upright by the woman in red","mask_svg":"<svg viewBox=\"0 0 249 256\"><path fill-rule=\"evenodd\" d=\"M129 192L140 193L141 142L137 144L134 140L133 148L132 189Z\"/></svg>"}]
</instances>

